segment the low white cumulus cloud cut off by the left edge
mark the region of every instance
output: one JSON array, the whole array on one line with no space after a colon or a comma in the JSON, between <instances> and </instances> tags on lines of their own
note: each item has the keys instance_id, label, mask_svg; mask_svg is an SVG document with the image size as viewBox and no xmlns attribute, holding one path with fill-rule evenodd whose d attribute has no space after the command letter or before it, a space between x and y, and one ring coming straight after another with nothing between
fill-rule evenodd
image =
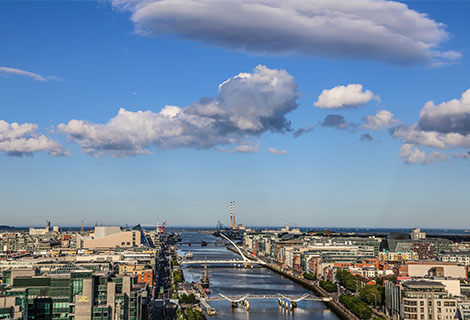
<instances>
[{"instance_id":1,"label":"low white cumulus cloud cut off by the left edge","mask_svg":"<svg viewBox=\"0 0 470 320\"><path fill-rule=\"evenodd\" d=\"M32 155L39 151L53 156L68 154L57 141L39 134L36 124L8 123L4 120L0 120L0 151L11 156Z\"/></svg>"}]
</instances>

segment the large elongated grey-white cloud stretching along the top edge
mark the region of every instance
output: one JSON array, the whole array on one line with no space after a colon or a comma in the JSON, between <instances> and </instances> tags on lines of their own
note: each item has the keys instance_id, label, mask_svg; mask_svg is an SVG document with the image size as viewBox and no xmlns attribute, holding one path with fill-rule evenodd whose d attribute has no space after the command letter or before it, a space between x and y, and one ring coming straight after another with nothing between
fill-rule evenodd
<instances>
[{"instance_id":1,"label":"large elongated grey-white cloud stretching along the top edge","mask_svg":"<svg viewBox=\"0 0 470 320\"><path fill-rule=\"evenodd\" d=\"M132 13L136 31L175 35L256 54L444 64L445 25L385 0L113 0Z\"/></svg>"}]
</instances>

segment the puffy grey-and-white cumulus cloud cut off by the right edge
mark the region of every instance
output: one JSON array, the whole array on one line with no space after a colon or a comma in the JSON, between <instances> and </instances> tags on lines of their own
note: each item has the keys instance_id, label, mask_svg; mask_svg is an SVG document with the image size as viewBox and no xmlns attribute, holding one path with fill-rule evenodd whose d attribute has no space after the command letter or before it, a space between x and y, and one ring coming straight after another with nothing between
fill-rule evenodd
<instances>
[{"instance_id":1,"label":"puffy grey-and-white cumulus cloud cut off by the right edge","mask_svg":"<svg viewBox=\"0 0 470 320\"><path fill-rule=\"evenodd\" d=\"M460 99L453 99L438 105L432 101L427 102L421 109L417 123L400 125L391 128L390 132L393 137L402 140L403 145L438 150L470 148L469 120L470 89L465 91ZM439 160L435 153L432 155L435 161ZM449 157L446 155L446 158Z\"/></svg>"}]
</instances>

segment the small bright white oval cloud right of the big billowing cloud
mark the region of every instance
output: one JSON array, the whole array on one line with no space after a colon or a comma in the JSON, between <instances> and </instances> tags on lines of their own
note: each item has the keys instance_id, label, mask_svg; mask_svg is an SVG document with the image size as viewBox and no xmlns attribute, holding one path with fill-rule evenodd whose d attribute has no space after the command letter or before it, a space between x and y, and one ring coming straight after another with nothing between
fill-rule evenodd
<instances>
[{"instance_id":1,"label":"small bright white oval cloud right of the big billowing cloud","mask_svg":"<svg viewBox=\"0 0 470 320\"><path fill-rule=\"evenodd\" d=\"M361 84L348 84L323 90L314 106L325 109L359 107L373 97L374 94L370 90L362 90Z\"/></svg>"}]
</instances>

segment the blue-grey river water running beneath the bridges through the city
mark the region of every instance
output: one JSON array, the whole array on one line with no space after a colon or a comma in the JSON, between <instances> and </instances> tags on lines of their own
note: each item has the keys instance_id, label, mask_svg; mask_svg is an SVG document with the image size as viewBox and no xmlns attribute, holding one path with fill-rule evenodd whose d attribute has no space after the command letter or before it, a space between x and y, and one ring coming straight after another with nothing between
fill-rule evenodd
<instances>
[{"instance_id":1,"label":"blue-grey river water running beneath the bridges through the city","mask_svg":"<svg viewBox=\"0 0 470 320\"><path fill-rule=\"evenodd\" d=\"M196 232L182 232L182 244L179 254L184 255L191 251L194 260L204 259L239 259L240 256L227 250L220 238ZM201 242L208 243L202 247ZM189 245L191 244L191 245ZM283 276L263 267L233 268L208 266L211 295L228 294L277 294L301 296L311 293L302 286L284 278ZM186 281L199 281L203 268L184 267ZM232 308L229 301L213 301L210 305L217 310L217 316L211 319L339 319L323 302L300 301L293 312L279 307L277 300L250 300L250 310Z\"/></svg>"}]
</instances>

